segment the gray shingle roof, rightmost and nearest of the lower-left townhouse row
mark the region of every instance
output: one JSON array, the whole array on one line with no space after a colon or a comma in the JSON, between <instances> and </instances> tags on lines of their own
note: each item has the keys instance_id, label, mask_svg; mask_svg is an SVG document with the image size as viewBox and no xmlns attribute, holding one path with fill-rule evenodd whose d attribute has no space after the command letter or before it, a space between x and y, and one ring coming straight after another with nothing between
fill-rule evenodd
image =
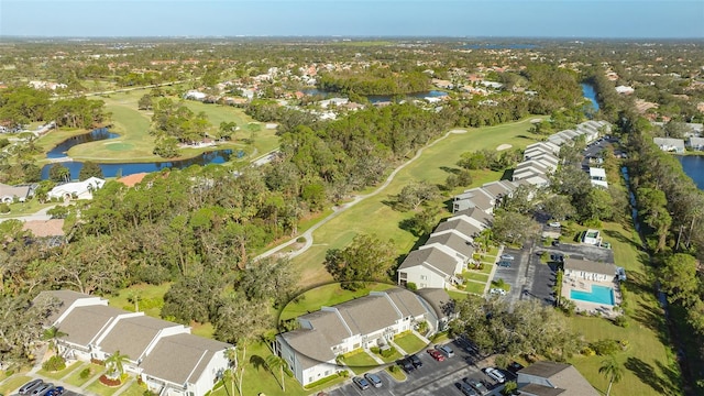
<instances>
[{"instance_id":1,"label":"gray shingle roof, rightmost and nearest of the lower-left townhouse row","mask_svg":"<svg viewBox=\"0 0 704 396\"><path fill-rule=\"evenodd\" d=\"M175 384L195 383L216 353L231 344L193 334L162 338L142 361L146 375ZM121 351L122 352L122 351Z\"/></svg>"}]
</instances>

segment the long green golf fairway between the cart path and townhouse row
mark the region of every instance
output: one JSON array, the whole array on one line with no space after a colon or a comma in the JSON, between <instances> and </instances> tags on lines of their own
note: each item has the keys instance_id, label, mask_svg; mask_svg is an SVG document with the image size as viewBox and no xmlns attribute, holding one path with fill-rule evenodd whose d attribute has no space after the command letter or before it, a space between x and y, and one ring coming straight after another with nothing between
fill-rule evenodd
<instances>
[{"instance_id":1,"label":"long green golf fairway between the cart path and townhouse row","mask_svg":"<svg viewBox=\"0 0 704 396\"><path fill-rule=\"evenodd\" d=\"M317 285L329 282L330 277L322 268L327 250L344 248L359 233L376 234L384 240L392 239L399 255L408 254L418 238L403 230L399 223L411 218L414 213L394 210L384 202L409 183L424 180L433 184L444 183L449 173L443 168L457 168L455 164L465 151L495 150L503 143L525 147L536 142L537 139L528 132L529 128L529 120L524 120L498 127L473 129L464 134L450 134L433 146L427 147L418 160L399 170L382 193L361 201L316 230L315 244L320 246L314 246L293 260L296 271L301 274L301 283ZM472 170L472 175L487 174ZM493 173L487 179L475 177L472 186L468 188L497 180L499 177L501 173ZM495 249L493 253L496 254Z\"/></svg>"}]
</instances>

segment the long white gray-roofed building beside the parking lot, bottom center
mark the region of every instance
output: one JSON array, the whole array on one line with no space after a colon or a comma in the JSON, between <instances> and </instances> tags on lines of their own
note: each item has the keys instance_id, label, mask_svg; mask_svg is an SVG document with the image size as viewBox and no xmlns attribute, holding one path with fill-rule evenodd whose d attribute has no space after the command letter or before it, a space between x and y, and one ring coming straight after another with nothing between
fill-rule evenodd
<instances>
[{"instance_id":1,"label":"long white gray-roofed building beside the parking lot, bottom center","mask_svg":"<svg viewBox=\"0 0 704 396\"><path fill-rule=\"evenodd\" d=\"M449 300L432 294L439 301ZM414 329L429 318L449 316L431 312L433 304L402 288L372 292L297 318L300 328L276 336L275 353L287 364L298 382L306 386L341 370L337 356L372 346L387 345L395 336ZM433 330L437 328L433 328ZM408 351L415 352L415 351Z\"/></svg>"}]
</instances>

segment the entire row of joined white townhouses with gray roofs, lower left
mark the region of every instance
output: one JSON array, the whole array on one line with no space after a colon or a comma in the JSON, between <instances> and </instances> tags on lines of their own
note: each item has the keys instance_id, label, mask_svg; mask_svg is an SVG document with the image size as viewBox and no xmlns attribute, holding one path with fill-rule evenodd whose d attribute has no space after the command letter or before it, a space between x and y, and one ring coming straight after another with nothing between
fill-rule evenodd
<instances>
[{"instance_id":1,"label":"entire row of joined white townhouses with gray roofs, lower left","mask_svg":"<svg viewBox=\"0 0 704 396\"><path fill-rule=\"evenodd\" d=\"M58 308L46 327L65 336L59 353L80 361L105 361L116 351L125 354L125 372L139 376L148 389L164 396L204 396L229 367L232 345L190 334L190 328L108 306L108 300L72 290L42 292Z\"/></svg>"}]
</instances>

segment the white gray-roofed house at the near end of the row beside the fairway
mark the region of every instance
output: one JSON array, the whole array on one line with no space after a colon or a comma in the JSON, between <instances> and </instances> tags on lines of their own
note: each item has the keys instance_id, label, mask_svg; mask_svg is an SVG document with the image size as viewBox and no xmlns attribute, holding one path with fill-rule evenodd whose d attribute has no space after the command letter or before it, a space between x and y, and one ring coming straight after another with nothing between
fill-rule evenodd
<instances>
[{"instance_id":1,"label":"white gray-roofed house at the near end of the row beside the fairway","mask_svg":"<svg viewBox=\"0 0 704 396\"><path fill-rule=\"evenodd\" d=\"M410 252L398 270L398 284L413 283L418 289L426 287L446 288L459 283L455 274L461 274L464 264L453 255L435 246Z\"/></svg>"}]
</instances>

